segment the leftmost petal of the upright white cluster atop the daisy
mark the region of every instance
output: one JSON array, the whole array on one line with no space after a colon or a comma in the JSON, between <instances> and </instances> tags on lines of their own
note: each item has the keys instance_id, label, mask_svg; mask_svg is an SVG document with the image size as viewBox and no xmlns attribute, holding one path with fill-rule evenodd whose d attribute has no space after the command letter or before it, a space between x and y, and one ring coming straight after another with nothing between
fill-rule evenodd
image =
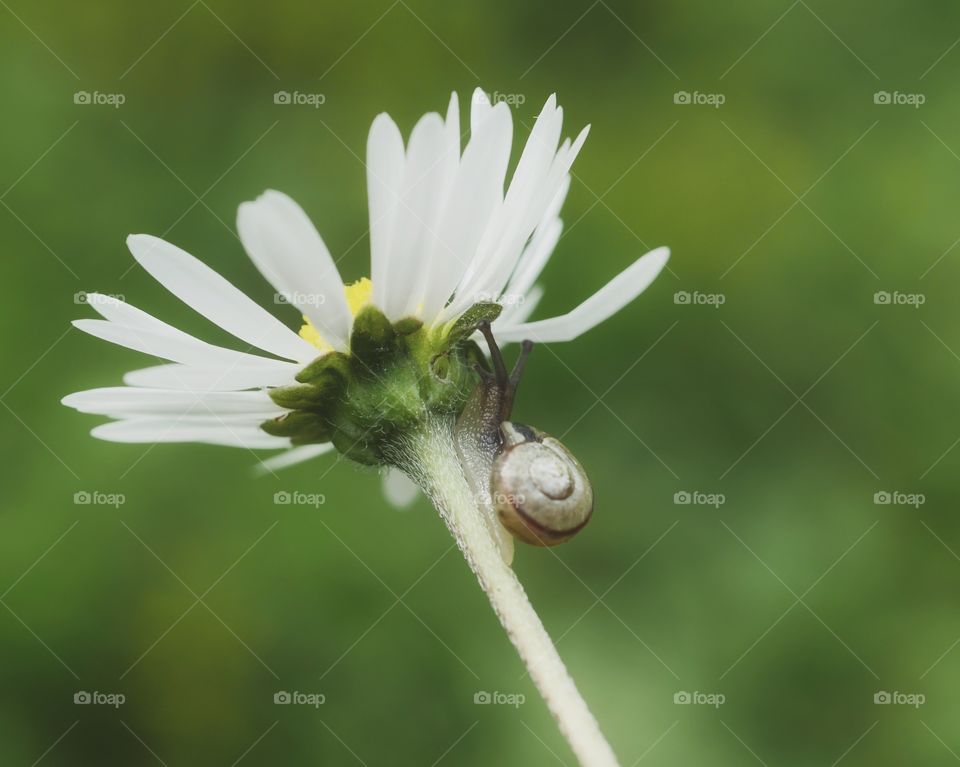
<instances>
[{"instance_id":1,"label":"leftmost petal of the upright white cluster atop the daisy","mask_svg":"<svg viewBox=\"0 0 960 767\"><path fill-rule=\"evenodd\" d=\"M370 279L373 303L383 307L390 286L391 236L400 205L403 137L387 114L377 115L367 137L367 198L370 209Z\"/></svg>"}]
</instances>

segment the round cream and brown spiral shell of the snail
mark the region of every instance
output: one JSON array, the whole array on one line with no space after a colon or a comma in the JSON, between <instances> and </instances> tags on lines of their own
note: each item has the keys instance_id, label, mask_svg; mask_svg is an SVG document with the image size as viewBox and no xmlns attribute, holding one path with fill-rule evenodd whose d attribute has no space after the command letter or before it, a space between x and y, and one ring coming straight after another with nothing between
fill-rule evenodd
<instances>
[{"instance_id":1,"label":"round cream and brown spiral shell of the snail","mask_svg":"<svg viewBox=\"0 0 960 767\"><path fill-rule=\"evenodd\" d=\"M526 424L500 424L503 447L493 463L494 509L516 537L555 546L579 532L593 513L593 488L558 439Z\"/></svg>"}]
</instances>

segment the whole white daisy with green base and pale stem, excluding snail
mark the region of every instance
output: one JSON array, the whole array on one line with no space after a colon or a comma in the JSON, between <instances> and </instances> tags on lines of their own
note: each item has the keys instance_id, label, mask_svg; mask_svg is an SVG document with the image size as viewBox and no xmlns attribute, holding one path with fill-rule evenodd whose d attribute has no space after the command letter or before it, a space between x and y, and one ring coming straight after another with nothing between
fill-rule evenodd
<instances>
[{"instance_id":1,"label":"whole white daisy with green base and pale stem, excluding snail","mask_svg":"<svg viewBox=\"0 0 960 767\"><path fill-rule=\"evenodd\" d=\"M496 524L478 515L483 504L471 500L470 472L458 463L451 436L478 370L489 367L476 343L480 329L501 343L573 340L632 301L667 261L666 248L654 250L566 314L530 319L563 229L570 167L589 131L561 139L562 123L551 96L507 183L511 111L480 89L464 146L456 94L445 115L424 115L406 143L388 115L377 116L366 151L370 278L352 284L343 283L292 199L267 191L243 203L240 240L277 296L301 315L299 331L176 245L130 236L143 269L246 350L207 343L125 301L89 294L100 319L76 320L79 330L165 362L127 373L123 386L77 392L63 403L112 419L92 433L115 442L283 450L265 462L269 469L336 449L402 470L440 509L581 761L613 764L522 588L517 592ZM393 480L388 494L409 497Z\"/></svg>"}]
</instances>

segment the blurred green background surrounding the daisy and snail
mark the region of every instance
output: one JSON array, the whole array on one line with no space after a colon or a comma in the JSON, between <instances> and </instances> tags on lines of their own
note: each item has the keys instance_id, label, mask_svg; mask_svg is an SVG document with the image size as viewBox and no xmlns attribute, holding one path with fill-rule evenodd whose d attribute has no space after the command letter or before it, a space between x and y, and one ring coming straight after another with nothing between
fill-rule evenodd
<instances>
[{"instance_id":1,"label":"blurred green background surrounding the daisy and snail","mask_svg":"<svg viewBox=\"0 0 960 767\"><path fill-rule=\"evenodd\" d=\"M673 249L518 403L597 488L516 569L623 763L957 757L955 4L0 6L3 764L573 763L425 501L331 456L257 479L243 450L97 442L59 405L148 362L70 329L81 291L229 343L128 233L270 306L233 227L273 187L359 278L371 120L477 85L521 138L553 91L593 125L537 316Z\"/></svg>"}]
</instances>

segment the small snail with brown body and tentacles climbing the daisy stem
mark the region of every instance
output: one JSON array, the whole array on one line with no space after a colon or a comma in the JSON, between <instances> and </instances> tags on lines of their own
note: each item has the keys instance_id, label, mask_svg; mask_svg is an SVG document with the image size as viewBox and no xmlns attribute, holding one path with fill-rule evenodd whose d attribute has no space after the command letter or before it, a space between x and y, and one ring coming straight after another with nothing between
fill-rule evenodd
<instances>
[{"instance_id":1,"label":"small snail with brown body and tentacles climbing the daisy stem","mask_svg":"<svg viewBox=\"0 0 960 767\"><path fill-rule=\"evenodd\" d=\"M475 489L486 478L488 509L503 528L525 543L555 546L590 521L593 488L580 462L560 440L510 420L517 385L533 348L524 341L511 373L489 323L479 328L490 347L493 372L478 367L481 382L457 423L461 458ZM461 449L470 446L473 449ZM469 462L468 462L469 463ZM506 556L506 555L505 555Z\"/></svg>"}]
</instances>

